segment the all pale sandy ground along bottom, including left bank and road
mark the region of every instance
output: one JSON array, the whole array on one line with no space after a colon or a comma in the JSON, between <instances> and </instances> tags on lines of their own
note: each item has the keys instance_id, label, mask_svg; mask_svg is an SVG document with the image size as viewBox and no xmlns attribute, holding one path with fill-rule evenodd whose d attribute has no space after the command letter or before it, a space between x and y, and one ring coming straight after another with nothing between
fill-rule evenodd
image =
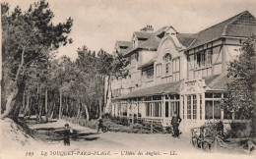
<instances>
[{"instance_id":1,"label":"all pale sandy ground along bottom, including left bank and road","mask_svg":"<svg viewBox=\"0 0 256 159\"><path fill-rule=\"evenodd\" d=\"M27 125L33 137L11 120L1 120L0 158L254 158L248 154L207 153L190 144L189 133L179 138L171 134L99 132L69 123L74 130L70 146L64 146L63 120ZM3 129L5 128L5 129Z\"/></svg>"}]
</instances>

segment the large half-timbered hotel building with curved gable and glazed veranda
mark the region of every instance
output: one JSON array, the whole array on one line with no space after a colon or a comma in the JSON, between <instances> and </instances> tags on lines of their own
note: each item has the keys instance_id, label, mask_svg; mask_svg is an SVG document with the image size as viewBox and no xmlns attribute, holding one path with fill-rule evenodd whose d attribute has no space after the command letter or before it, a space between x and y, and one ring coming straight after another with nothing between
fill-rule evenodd
<instances>
[{"instance_id":1,"label":"large half-timbered hotel building with curved gable and glazed veranda","mask_svg":"<svg viewBox=\"0 0 256 159\"><path fill-rule=\"evenodd\" d=\"M167 126L177 112L185 132L207 120L234 118L220 107L231 81L227 64L252 33L256 20L245 11L194 34L147 26L131 41L117 41L115 51L129 60L129 76L112 81L110 114Z\"/></svg>"}]
</instances>

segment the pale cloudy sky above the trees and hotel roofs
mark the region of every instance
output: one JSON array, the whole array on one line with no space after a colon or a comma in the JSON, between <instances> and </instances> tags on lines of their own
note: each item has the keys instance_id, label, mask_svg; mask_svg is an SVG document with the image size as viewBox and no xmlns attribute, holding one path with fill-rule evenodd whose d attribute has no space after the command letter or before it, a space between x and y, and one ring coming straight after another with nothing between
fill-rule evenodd
<instances>
[{"instance_id":1,"label":"pale cloudy sky above the trees and hotel roofs","mask_svg":"<svg viewBox=\"0 0 256 159\"><path fill-rule=\"evenodd\" d=\"M36 0L2 0L27 10ZM196 33L248 10L256 17L255 0L47 0L53 24L74 20L72 44L61 47L57 57L77 58L86 45L113 52L116 40L131 40L132 33L147 25L157 31L172 26L181 33Z\"/></svg>"}]
</instances>

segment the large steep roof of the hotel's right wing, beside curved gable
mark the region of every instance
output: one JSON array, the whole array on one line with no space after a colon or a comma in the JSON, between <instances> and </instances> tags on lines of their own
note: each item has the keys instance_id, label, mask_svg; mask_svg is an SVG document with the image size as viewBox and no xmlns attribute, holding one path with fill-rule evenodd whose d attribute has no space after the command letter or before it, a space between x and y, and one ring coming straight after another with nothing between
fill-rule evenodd
<instances>
[{"instance_id":1,"label":"large steep roof of the hotel's right wing, beside curved gable","mask_svg":"<svg viewBox=\"0 0 256 159\"><path fill-rule=\"evenodd\" d=\"M256 20L248 11L244 11L220 24L192 35L194 40L187 49L214 41L222 36L247 37L251 33L256 33Z\"/></svg>"}]
</instances>

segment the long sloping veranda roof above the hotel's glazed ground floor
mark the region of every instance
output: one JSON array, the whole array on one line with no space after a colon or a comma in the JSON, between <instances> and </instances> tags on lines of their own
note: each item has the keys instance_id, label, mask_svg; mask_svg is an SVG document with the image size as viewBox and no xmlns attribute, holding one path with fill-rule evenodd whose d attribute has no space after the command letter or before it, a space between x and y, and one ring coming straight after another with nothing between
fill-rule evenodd
<instances>
[{"instance_id":1,"label":"long sloping veranda roof above the hotel's glazed ground floor","mask_svg":"<svg viewBox=\"0 0 256 159\"><path fill-rule=\"evenodd\" d=\"M154 96L154 95L162 95L162 94L178 94L179 87L182 80L173 81L169 83L154 85L147 88L142 88L139 90L135 90L129 94L123 94L113 100L119 99L131 99L131 98L138 98L138 97L147 97L147 96Z\"/></svg>"}]
</instances>

